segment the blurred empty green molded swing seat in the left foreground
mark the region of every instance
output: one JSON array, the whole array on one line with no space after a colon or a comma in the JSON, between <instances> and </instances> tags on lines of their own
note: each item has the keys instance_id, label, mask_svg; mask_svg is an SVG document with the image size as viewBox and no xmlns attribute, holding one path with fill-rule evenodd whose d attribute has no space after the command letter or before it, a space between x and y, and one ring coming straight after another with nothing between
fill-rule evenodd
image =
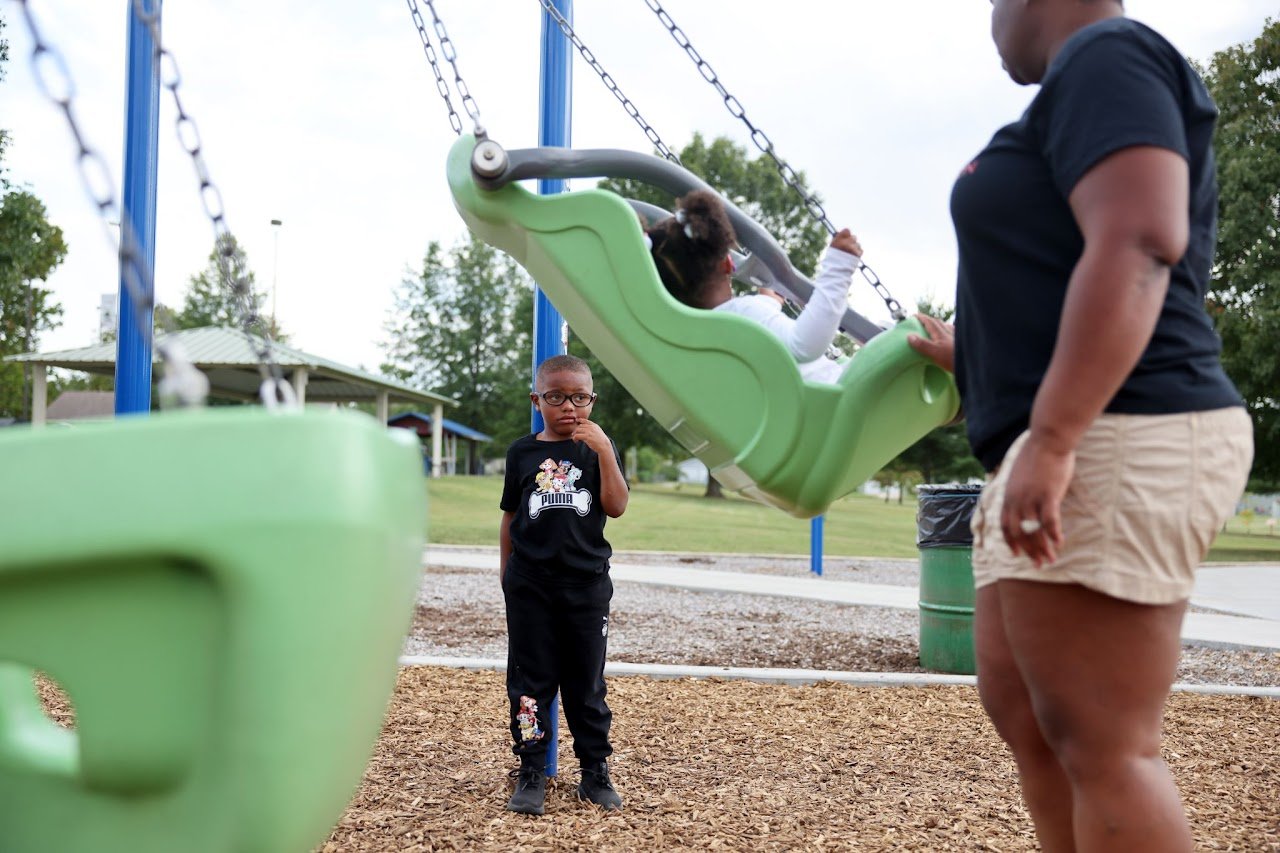
<instances>
[{"instance_id":1,"label":"blurred empty green molded swing seat in the left foreground","mask_svg":"<svg viewBox=\"0 0 1280 853\"><path fill-rule=\"evenodd\" d=\"M0 850L324 840L421 573L404 435L239 407L0 434ZM74 731L42 713L33 669Z\"/></svg>"}]
</instances>

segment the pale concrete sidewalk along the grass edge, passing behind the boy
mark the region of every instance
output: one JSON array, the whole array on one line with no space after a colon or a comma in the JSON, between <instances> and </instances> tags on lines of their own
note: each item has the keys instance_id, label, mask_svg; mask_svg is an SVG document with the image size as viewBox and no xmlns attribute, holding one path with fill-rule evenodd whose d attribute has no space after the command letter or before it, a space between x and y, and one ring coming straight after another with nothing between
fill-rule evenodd
<instances>
[{"instance_id":1,"label":"pale concrete sidewalk along the grass edge, passing behind the boy","mask_svg":"<svg viewBox=\"0 0 1280 853\"><path fill-rule=\"evenodd\" d=\"M424 555L433 566L489 569L498 571L498 549L453 549L430 547ZM919 608L919 589L887 584L827 580L813 575L746 574L645 565L614 560L614 581L680 587L704 592L733 592L753 596L786 596L829 601L840 605ZM1196 576L1192 605L1220 613L1188 613L1183 639L1212 646L1280 648L1280 565L1242 565L1201 569Z\"/></svg>"}]
</instances>

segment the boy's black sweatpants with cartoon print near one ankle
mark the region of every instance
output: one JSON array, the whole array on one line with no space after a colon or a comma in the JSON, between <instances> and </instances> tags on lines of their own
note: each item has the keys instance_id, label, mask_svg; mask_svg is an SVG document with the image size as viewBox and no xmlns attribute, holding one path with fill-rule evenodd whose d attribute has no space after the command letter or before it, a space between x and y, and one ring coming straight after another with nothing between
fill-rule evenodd
<instances>
[{"instance_id":1,"label":"boy's black sweatpants with cartoon print near one ankle","mask_svg":"<svg viewBox=\"0 0 1280 853\"><path fill-rule=\"evenodd\" d=\"M604 652L613 598L608 573L552 583L508 565L502 590L507 602L512 752L524 762L545 763L548 711L558 689L573 735L573 754L582 763L603 761L613 753L613 715L604 702ZM530 701L536 704L536 726L530 720Z\"/></svg>"}]
</instances>

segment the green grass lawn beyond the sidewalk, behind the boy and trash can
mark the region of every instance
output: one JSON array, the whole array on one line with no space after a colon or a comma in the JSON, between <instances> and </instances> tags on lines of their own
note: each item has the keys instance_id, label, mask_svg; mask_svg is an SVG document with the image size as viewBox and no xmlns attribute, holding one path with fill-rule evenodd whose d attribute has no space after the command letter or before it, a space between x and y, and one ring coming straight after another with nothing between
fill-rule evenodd
<instances>
[{"instance_id":1,"label":"green grass lawn beyond the sidewalk, behind the boy and trash can","mask_svg":"<svg viewBox=\"0 0 1280 853\"><path fill-rule=\"evenodd\" d=\"M428 480L428 493L433 543L498 544L502 478L444 476ZM914 557L915 505L851 496L831 506L824 534L829 556ZM611 520L605 535L618 551L809 553L808 520L739 497L710 501L699 485L636 485L626 515ZM1280 535L1267 535L1258 521L1249 534L1233 520L1208 558L1280 562Z\"/></svg>"}]
</instances>

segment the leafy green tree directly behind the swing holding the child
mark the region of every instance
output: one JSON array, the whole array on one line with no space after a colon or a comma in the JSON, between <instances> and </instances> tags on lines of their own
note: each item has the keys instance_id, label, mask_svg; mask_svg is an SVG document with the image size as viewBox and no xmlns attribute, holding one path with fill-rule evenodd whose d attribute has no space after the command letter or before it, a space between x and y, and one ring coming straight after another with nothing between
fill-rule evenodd
<instances>
[{"instance_id":1,"label":"leafy green tree directly behind the swing holding the child","mask_svg":"<svg viewBox=\"0 0 1280 853\"><path fill-rule=\"evenodd\" d=\"M787 251L796 269L813 270L818 256L827 245L827 233L805 210L804 201L786 186L777 168L768 158L753 159L748 150L735 145L727 137L707 142L700 133L680 151L680 160L686 169L700 177L722 192L745 214L760 223ZM804 175L800 175L804 183ZM675 197L662 190L639 181L608 179L600 187L618 193L625 199L646 201L664 210L675 207ZM595 374L595 384L600 394L598 406L602 424L608 424L607 432L620 444L648 446L663 455L681 453L678 444L667 432L643 414L644 409L608 370L604 369L585 347L570 345L575 355L586 357ZM613 401L618 401L613 409ZM611 406L605 410L605 406ZM605 416L608 420L605 421ZM708 497L719 497L719 483L709 478Z\"/></svg>"}]
</instances>

